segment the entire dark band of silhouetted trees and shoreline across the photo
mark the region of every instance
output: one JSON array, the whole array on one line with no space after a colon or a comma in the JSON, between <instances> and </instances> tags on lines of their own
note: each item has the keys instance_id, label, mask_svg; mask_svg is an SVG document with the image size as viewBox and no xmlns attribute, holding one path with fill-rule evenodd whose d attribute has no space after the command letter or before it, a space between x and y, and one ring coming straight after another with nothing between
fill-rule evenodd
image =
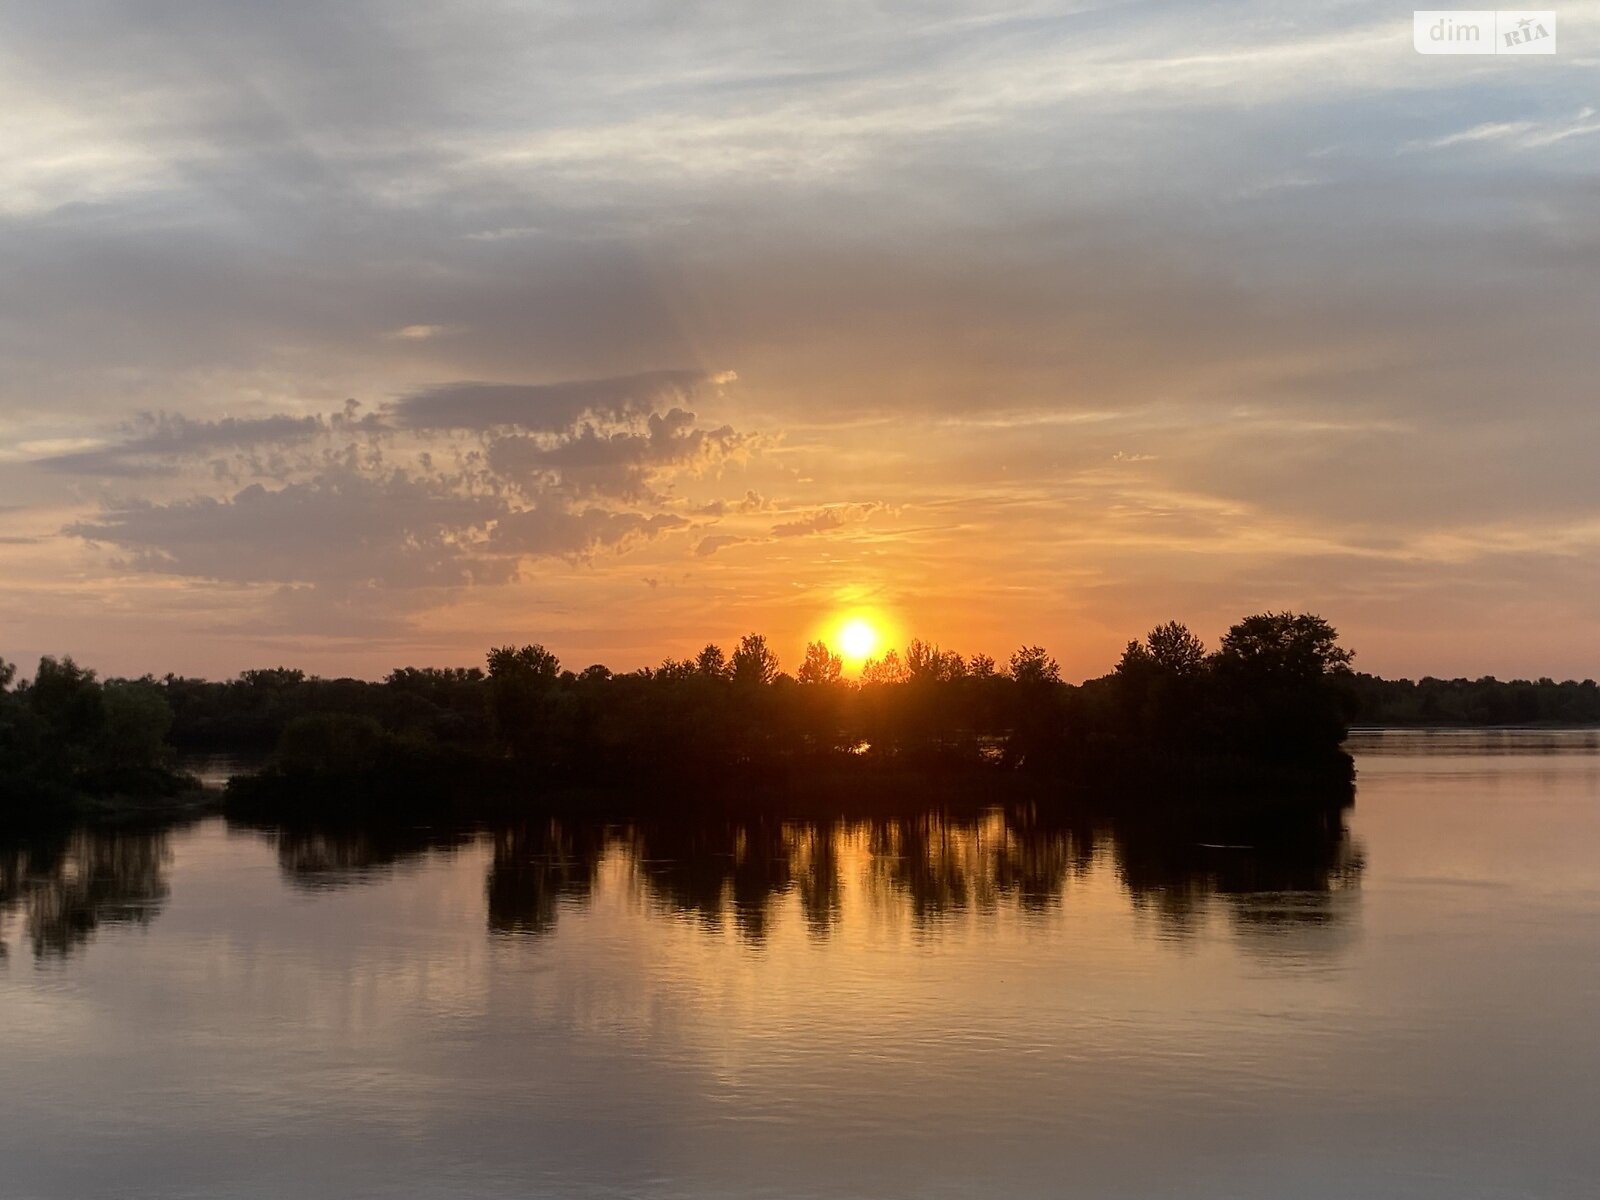
<instances>
[{"instance_id":1,"label":"entire dark band of silhouetted trees and shoreline across the photo","mask_svg":"<svg viewBox=\"0 0 1600 1200\"><path fill-rule=\"evenodd\" d=\"M0 661L0 821L203 803L173 770L179 749L261 755L264 770L229 789L229 805L259 813L526 806L605 789L635 800L779 790L794 803L798 790L1002 779L1043 798L1347 798L1352 722L1600 720L1592 682L1386 682L1350 659L1322 618L1264 613L1214 650L1166 622L1082 685L1035 645L995 662L922 640L861 680L816 642L790 674L760 634L627 674L563 669L541 645L382 682L283 667L99 680L51 658L18 682Z\"/></svg>"}]
</instances>

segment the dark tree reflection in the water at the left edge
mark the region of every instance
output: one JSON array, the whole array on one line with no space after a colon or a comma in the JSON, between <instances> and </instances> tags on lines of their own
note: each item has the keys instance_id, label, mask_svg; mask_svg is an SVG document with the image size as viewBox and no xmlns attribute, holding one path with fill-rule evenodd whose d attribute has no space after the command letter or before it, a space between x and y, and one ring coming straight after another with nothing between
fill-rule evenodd
<instances>
[{"instance_id":1,"label":"dark tree reflection in the water at the left edge","mask_svg":"<svg viewBox=\"0 0 1600 1200\"><path fill-rule=\"evenodd\" d=\"M66 957L101 925L147 925L166 902L166 834L88 830L0 846L0 918L22 914L38 957ZM0 955L5 954L0 941Z\"/></svg>"}]
</instances>

